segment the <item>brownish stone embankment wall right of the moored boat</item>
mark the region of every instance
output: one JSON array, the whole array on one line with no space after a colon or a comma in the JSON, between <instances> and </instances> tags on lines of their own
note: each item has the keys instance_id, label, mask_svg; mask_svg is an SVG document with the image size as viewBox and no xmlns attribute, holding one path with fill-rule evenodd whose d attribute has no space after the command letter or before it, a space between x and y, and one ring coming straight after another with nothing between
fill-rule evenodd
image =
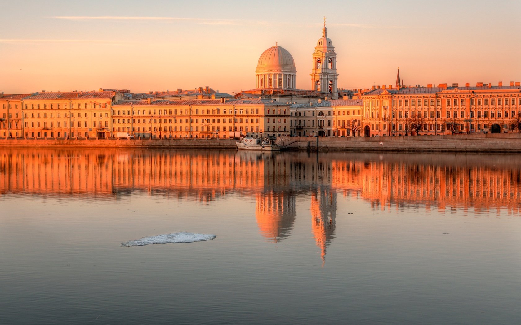
<instances>
[{"instance_id":1,"label":"brownish stone embankment wall right of the moored boat","mask_svg":"<svg viewBox=\"0 0 521 325\"><path fill-rule=\"evenodd\" d=\"M277 144L283 150L313 151L318 148L322 151L521 152L521 133L345 138L279 137Z\"/></svg>"}]
</instances>

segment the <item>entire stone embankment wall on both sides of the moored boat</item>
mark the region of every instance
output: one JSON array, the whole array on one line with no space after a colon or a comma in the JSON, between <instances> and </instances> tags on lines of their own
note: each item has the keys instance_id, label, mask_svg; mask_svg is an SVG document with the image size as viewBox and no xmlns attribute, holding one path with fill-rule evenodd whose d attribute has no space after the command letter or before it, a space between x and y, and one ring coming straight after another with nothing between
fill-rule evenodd
<instances>
[{"instance_id":1,"label":"entire stone embankment wall on both sides of the moored boat","mask_svg":"<svg viewBox=\"0 0 521 325\"><path fill-rule=\"evenodd\" d=\"M521 133L396 137L279 137L286 150L521 152ZM235 149L235 139L1 139L0 147Z\"/></svg>"}]
</instances>

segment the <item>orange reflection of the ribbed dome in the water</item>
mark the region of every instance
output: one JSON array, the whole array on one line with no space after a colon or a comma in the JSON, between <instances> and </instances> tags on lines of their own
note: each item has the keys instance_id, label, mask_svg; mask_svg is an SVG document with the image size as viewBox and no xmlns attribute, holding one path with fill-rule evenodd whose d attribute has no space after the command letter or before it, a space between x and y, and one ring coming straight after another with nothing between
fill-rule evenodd
<instances>
[{"instance_id":1,"label":"orange reflection of the ribbed dome in the water","mask_svg":"<svg viewBox=\"0 0 521 325\"><path fill-rule=\"evenodd\" d=\"M282 193L263 193L257 196L255 217L261 234L270 241L287 238L295 222L295 200Z\"/></svg>"}]
</instances>

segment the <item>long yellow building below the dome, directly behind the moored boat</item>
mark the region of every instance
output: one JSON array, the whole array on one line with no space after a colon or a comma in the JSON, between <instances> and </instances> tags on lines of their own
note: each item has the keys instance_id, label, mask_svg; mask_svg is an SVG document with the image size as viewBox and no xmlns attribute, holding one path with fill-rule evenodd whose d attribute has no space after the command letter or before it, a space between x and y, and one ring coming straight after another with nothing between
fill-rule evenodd
<instances>
[{"instance_id":1,"label":"long yellow building below the dome, directly behind the moored boat","mask_svg":"<svg viewBox=\"0 0 521 325\"><path fill-rule=\"evenodd\" d=\"M271 99L120 100L111 132L141 138L227 138L290 134L290 105Z\"/></svg>"}]
</instances>

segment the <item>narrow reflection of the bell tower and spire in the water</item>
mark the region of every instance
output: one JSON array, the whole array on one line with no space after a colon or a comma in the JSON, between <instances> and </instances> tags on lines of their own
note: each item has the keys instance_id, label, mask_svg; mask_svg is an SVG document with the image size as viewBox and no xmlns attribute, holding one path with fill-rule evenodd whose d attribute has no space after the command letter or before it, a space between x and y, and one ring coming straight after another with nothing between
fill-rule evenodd
<instances>
[{"instance_id":1,"label":"narrow reflection of the bell tower and spire in the water","mask_svg":"<svg viewBox=\"0 0 521 325\"><path fill-rule=\"evenodd\" d=\"M326 187L311 192L312 232L320 248L322 262L326 261L326 247L334 238L337 216L337 193ZM323 265L323 264L322 264Z\"/></svg>"}]
</instances>

